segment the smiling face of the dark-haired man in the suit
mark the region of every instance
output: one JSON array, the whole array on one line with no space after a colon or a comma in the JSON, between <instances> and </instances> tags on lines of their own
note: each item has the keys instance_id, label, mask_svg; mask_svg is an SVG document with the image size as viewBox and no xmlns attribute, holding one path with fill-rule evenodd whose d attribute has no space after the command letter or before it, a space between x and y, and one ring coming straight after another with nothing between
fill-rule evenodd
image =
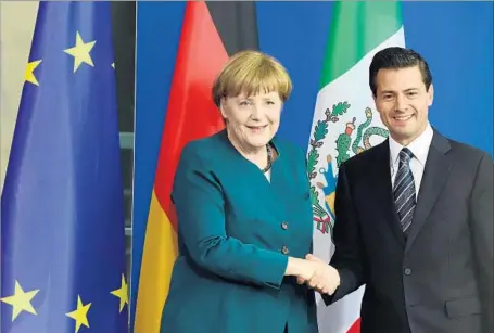
<instances>
[{"instance_id":1,"label":"smiling face of the dark-haired man in the suit","mask_svg":"<svg viewBox=\"0 0 494 333\"><path fill-rule=\"evenodd\" d=\"M390 136L407 145L427 128L434 88L423 84L418 66L379 69L376 76L376 107Z\"/></svg>"}]
</instances>

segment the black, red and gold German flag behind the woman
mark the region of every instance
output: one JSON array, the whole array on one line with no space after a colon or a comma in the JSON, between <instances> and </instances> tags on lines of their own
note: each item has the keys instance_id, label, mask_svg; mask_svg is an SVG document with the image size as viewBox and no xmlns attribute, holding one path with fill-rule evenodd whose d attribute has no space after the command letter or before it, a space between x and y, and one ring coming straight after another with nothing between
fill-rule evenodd
<instances>
[{"instance_id":1,"label":"black, red and gold German flag behind the woman","mask_svg":"<svg viewBox=\"0 0 494 333\"><path fill-rule=\"evenodd\" d=\"M170 191L180 152L187 142L224 127L211 88L228 57L246 49L258 49L254 2L187 2L148 215L135 333L159 333L161 329L177 257Z\"/></svg>"}]
</instances>

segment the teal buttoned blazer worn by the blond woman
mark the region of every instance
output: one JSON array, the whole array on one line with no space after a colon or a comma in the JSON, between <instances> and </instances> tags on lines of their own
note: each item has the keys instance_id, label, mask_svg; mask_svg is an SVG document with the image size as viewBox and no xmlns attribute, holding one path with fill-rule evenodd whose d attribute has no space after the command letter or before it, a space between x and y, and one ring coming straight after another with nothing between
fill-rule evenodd
<instances>
[{"instance_id":1,"label":"teal buttoned blazer worn by the blond woman","mask_svg":"<svg viewBox=\"0 0 494 333\"><path fill-rule=\"evenodd\" d=\"M162 333L314 333L314 291L284 278L288 256L312 251L305 156L271 142L270 182L226 130L182 151L172 193L179 256Z\"/></svg>"}]
</instances>

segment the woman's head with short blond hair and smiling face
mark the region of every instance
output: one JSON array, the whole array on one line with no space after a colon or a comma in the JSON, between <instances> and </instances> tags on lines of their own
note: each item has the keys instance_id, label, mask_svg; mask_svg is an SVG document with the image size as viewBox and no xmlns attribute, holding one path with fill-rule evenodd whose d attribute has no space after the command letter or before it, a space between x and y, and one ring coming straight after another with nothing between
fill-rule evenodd
<instances>
[{"instance_id":1,"label":"woman's head with short blond hair and smiling face","mask_svg":"<svg viewBox=\"0 0 494 333\"><path fill-rule=\"evenodd\" d=\"M287 69L258 51L229 59L216 78L212 97L224 118L228 138L243 154L257 154L275 137L281 108L292 91Z\"/></svg>"}]
</instances>

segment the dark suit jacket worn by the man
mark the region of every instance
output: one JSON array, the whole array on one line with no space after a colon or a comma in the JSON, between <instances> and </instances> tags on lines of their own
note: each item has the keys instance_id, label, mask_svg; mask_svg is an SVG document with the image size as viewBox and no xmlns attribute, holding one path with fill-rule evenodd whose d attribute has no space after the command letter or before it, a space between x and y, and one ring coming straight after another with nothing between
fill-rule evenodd
<instances>
[{"instance_id":1,"label":"dark suit jacket worn by the man","mask_svg":"<svg viewBox=\"0 0 494 333\"><path fill-rule=\"evenodd\" d=\"M366 284L363 333L492 333L493 163L434 130L411 230L394 207L389 141L343 163L335 195L341 284Z\"/></svg>"}]
</instances>

